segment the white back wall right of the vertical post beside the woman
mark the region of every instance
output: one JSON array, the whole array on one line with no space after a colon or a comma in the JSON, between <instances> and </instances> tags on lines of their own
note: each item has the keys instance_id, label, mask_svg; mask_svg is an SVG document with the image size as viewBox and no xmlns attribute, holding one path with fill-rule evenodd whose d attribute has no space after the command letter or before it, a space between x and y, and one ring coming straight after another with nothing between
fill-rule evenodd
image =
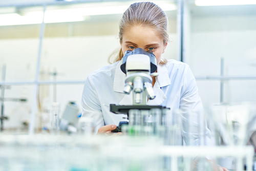
<instances>
[{"instance_id":1,"label":"white back wall right of the vertical post beside the woman","mask_svg":"<svg viewBox=\"0 0 256 171\"><path fill-rule=\"evenodd\" d=\"M208 16L191 20L191 59L195 76L256 75L256 16ZM197 81L204 105L220 102L220 81ZM224 85L224 101L256 101L256 80L232 80Z\"/></svg>"}]
</instances>

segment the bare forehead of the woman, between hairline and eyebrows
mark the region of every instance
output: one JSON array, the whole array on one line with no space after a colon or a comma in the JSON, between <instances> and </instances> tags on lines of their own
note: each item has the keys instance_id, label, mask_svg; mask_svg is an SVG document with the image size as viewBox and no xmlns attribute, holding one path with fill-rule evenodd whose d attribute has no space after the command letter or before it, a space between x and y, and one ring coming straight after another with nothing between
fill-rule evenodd
<instances>
[{"instance_id":1,"label":"bare forehead of the woman, between hairline and eyebrows","mask_svg":"<svg viewBox=\"0 0 256 171\"><path fill-rule=\"evenodd\" d=\"M132 26L123 32L123 41L132 41L134 43L151 44L153 42L163 42L163 39L157 34L157 30L148 26Z\"/></svg>"}]
</instances>

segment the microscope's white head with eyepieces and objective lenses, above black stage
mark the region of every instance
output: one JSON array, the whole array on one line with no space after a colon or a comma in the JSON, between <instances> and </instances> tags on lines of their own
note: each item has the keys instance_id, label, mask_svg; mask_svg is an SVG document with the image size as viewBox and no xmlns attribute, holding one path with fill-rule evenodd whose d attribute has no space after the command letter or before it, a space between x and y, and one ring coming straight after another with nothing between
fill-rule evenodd
<instances>
[{"instance_id":1,"label":"microscope's white head with eyepieces and objective lenses, above black stage","mask_svg":"<svg viewBox=\"0 0 256 171\"><path fill-rule=\"evenodd\" d=\"M134 90L134 105L146 104L143 92L147 94L148 99L156 97L152 89L152 77L157 73L157 60L153 51L144 51L136 48L134 51L126 51L121 60L121 70L126 74L125 86L123 92L130 94Z\"/></svg>"}]
</instances>

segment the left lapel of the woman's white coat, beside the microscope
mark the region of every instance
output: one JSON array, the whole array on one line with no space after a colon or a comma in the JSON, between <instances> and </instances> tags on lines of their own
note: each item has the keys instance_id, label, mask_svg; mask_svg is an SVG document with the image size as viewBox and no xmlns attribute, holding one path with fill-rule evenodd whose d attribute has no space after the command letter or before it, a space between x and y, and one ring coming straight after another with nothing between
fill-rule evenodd
<instances>
[{"instance_id":1,"label":"left lapel of the woman's white coat, beside the microscope","mask_svg":"<svg viewBox=\"0 0 256 171\"><path fill-rule=\"evenodd\" d=\"M116 67L113 89L115 92L123 93L126 75L122 72L120 66L121 61L119 61ZM133 92L131 92L130 94L124 94L122 100L119 102L119 105L133 105Z\"/></svg>"}]
</instances>

